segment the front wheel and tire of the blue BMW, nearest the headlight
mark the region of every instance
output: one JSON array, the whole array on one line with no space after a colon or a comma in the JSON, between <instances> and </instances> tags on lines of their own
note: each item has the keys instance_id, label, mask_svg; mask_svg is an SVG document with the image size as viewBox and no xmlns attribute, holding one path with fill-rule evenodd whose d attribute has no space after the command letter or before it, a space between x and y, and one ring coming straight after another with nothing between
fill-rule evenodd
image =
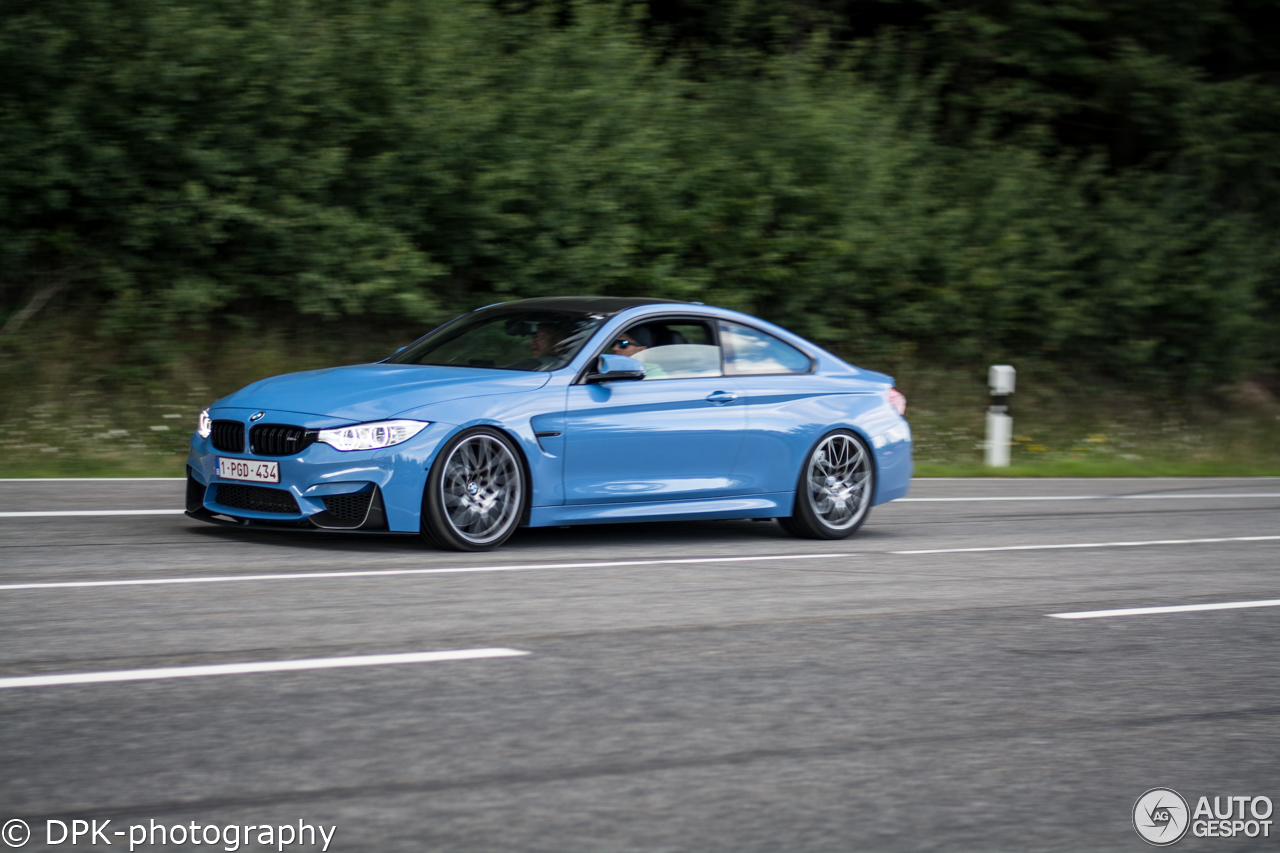
<instances>
[{"instance_id":1,"label":"front wheel and tire of the blue BMW, nearest the headlight","mask_svg":"<svg viewBox=\"0 0 1280 853\"><path fill-rule=\"evenodd\" d=\"M520 451L477 426L440 450L422 494L422 538L448 551L489 551L520 526L529 496Z\"/></svg>"}]
</instances>

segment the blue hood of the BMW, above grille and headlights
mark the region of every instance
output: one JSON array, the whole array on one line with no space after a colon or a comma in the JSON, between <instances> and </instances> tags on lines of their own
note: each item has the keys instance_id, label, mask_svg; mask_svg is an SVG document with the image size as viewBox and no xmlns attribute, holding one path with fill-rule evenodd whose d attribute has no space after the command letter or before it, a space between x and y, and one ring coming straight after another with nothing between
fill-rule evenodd
<instances>
[{"instance_id":1,"label":"blue hood of the BMW, above grille and headlights","mask_svg":"<svg viewBox=\"0 0 1280 853\"><path fill-rule=\"evenodd\" d=\"M412 364L358 364L262 379L218 406L293 411L351 421L394 418L411 409L465 397L534 391L550 374Z\"/></svg>"}]
</instances>

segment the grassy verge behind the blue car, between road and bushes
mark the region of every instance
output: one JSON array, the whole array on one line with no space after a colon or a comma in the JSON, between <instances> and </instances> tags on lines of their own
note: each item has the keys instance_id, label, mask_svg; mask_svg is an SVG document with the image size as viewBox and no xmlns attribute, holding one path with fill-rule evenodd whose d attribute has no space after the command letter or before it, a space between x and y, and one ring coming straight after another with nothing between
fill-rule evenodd
<instances>
[{"instance_id":1,"label":"grassy verge behind the blue car, between road and bushes","mask_svg":"<svg viewBox=\"0 0 1280 853\"><path fill-rule=\"evenodd\" d=\"M0 347L0 478L182 476L196 415L214 400L264 377L374 361L417 333L232 329L188 336L140 365L87 328L32 327ZM887 368L908 397L918 476L1280 475L1280 403L1261 383L1183 401L1023 365L1012 465L991 469L984 369Z\"/></svg>"}]
</instances>

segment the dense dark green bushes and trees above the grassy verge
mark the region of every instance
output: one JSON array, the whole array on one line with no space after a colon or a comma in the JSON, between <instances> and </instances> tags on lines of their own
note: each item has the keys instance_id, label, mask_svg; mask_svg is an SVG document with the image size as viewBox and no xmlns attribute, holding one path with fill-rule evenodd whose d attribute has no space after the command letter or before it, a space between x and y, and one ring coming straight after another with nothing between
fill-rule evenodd
<instances>
[{"instance_id":1,"label":"dense dark green bushes and trees above the grassy verge","mask_svg":"<svg viewBox=\"0 0 1280 853\"><path fill-rule=\"evenodd\" d=\"M1208 387L1280 366L1277 40L1270 0L5 0L0 318L659 295Z\"/></svg>"}]
</instances>

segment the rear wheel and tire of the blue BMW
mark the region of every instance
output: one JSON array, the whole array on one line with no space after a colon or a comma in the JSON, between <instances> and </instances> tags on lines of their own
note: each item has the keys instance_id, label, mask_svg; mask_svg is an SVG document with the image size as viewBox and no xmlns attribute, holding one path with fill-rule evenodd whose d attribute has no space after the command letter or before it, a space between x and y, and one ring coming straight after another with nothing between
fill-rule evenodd
<instances>
[{"instance_id":1,"label":"rear wheel and tire of the blue BMW","mask_svg":"<svg viewBox=\"0 0 1280 853\"><path fill-rule=\"evenodd\" d=\"M805 456L795 508L778 524L794 537L844 539L863 526L874 494L870 448L847 429L837 429L823 435Z\"/></svg>"}]
</instances>

